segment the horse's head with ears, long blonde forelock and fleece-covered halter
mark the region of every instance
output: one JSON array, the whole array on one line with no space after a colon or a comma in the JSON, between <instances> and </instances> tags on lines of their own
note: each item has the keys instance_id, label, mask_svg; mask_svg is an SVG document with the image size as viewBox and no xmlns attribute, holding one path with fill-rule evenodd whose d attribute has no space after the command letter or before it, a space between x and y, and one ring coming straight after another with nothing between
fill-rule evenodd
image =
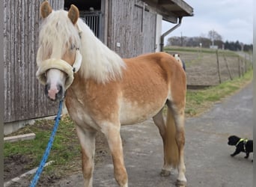
<instances>
[{"instance_id":1,"label":"horse's head with ears, long blonde forelock and fleece-covered halter","mask_svg":"<svg viewBox=\"0 0 256 187\"><path fill-rule=\"evenodd\" d=\"M76 24L79 10L71 5L68 12L54 11L48 1L43 1L40 16L43 22L37 51L37 79L45 85L49 99L61 99L82 62L79 27Z\"/></svg>"}]
</instances>

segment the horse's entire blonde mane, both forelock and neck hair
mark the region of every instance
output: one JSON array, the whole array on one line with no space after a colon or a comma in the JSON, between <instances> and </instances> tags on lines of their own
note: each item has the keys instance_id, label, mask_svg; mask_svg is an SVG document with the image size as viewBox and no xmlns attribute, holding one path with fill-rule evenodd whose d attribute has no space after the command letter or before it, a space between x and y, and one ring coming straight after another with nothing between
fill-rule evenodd
<instances>
[{"instance_id":1,"label":"horse's entire blonde mane, both forelock and neck hair","mask_svg":"<svg viewBox=\"0 0 256 187\"><path fill-rule=\"evenodd\" d=\"M41 25L37 65L48 58L61 59L70 46L81 52L82 65L78 73L83 78L95 79L99 83L122 78L125 68L122 58L95 37L82 19L74 27L67 11L52 11Z\"/></svg>"}]
</instances>

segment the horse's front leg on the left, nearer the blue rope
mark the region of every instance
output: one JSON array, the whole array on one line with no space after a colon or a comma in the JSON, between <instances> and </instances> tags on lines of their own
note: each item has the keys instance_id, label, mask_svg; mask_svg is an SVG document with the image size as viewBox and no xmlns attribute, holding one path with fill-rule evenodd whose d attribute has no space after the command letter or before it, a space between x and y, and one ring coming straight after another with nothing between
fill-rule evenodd
<instances>
[{"instance_id":1,"label":"horse's front leg on the left, nearer the blue rope","mask_svg":"<svg viewBox=\"0 0 256 187\"><path fill-rule=\"evenodd\" d=\"M76 132L81 144L84 186L92 187L96 132L82 129L80 126L76 126Z\"/></svg>"}]
</instances>

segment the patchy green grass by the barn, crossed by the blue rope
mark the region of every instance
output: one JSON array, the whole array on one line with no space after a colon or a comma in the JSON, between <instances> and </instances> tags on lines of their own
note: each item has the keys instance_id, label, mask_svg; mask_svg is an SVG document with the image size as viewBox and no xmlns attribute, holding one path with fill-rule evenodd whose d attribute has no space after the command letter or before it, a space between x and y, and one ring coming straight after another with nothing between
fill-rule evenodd
<instances>
[{"instance_id":1,"label":"patchy green grass by the barn, crossed by the blue rope","mask_svg":"<svg viewBox=\"0 0 256 187\"><path fill-rule=\"evenodd\" d=\"M36 138L31 141L16 141L4 143L4 158L13 155L23 155L27 159L32 159L30 165L26 165L25 169L30 170L36 168L49 141L52 133L53 120L37 120L32 126L25 126L11 135L21 135L34 132ZM61 177L72 171L79 171L74 162L80 159L80 146L76 136L76 129L70 117L67 115L62 117L55 135L55 140L49 154L48 162L54 161L53 164L46 168L46 175L55 174ZM80 162L79 162L80 164ZM56 172L57 171L57 172Z\"/></svg>"}]
</instances>

